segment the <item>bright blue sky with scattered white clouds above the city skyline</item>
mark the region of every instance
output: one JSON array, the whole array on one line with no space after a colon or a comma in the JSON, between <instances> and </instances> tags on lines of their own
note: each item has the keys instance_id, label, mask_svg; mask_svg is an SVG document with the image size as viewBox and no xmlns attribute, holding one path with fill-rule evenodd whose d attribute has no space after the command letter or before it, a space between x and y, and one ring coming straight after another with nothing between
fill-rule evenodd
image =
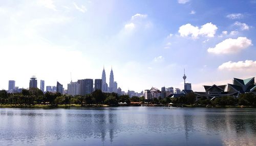
<instances>
[{"instance_id":1,"label":"bright blue sky with scattered white clouds above the city skyline","mask_svg":"<svg viewBox=\"0 0 256 146\"><path fill-rule=\"evenodd\" d=\"M101 78L192 90L256 75L256 1L0 1L0 89Z\"/></svg>"}]
</instances>

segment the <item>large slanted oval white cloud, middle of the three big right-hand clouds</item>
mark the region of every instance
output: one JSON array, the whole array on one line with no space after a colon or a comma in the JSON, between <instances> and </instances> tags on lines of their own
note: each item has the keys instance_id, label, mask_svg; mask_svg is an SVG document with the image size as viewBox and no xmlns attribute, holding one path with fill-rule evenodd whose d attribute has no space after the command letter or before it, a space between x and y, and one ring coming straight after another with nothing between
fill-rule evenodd
<instances>
[{"instance_id":1,"label":"large slanted oval white cloud, middle of the three big right-hand clouds","mask_svg":"<svg viewBox=\"0 0 256 146\"><path fill-rule=\"evenodd\" d=\"M229 38L220 42L214 48L208 48L207 51L214 54L237 53L251 45L251 40L246 37L238 37L237 39Z\"/></svg>"}]
</instances>

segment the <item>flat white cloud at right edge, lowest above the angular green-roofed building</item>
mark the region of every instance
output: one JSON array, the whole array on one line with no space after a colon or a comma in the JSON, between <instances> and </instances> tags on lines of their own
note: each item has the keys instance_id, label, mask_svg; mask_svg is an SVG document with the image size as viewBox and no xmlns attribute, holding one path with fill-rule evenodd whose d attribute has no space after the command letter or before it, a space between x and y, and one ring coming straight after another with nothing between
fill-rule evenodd
<instances>
[{"instance_id":1,"label":"flat white cloud at right edge, lowest above the angular green-roofed building","mask_svg":"<svg viewBox=\"0 0 256 146\"><path fill-rule=\"evenodd\" d=\"M255 71L256 70L256 61L250 61L250 60L246 60L246 61L240 61L240 62L226 62L223 63L222 65L220 65L218 67L219 70L229 70L229 71L236 71L236 70L240 70L240 71L244 71L244 70L251 70L251 71Z\"/></svg>"}]
</instances>

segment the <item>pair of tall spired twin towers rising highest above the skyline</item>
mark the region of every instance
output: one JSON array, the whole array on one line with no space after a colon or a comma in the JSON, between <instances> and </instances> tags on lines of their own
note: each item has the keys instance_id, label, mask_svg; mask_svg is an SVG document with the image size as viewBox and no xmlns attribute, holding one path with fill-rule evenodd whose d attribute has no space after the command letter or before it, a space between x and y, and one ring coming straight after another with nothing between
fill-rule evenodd
<instances>
[{"instance_id":1,"label":"pair of tall spired twin towers rising highest above the skyline","mask_svg":"<svg viewBox=\"0 0 256 146\"><path fill-rule=\"evenodd\" d=\"M102 91L103 92L117 93L117 82L114 81L114 74L113 74L112 67L111 67L111 72L110 72L110 84L108 85L108 83L106 83L106 73L105 73L104 67L103 67L101 79L102 79Z\"/></svg>"}]
</instances>

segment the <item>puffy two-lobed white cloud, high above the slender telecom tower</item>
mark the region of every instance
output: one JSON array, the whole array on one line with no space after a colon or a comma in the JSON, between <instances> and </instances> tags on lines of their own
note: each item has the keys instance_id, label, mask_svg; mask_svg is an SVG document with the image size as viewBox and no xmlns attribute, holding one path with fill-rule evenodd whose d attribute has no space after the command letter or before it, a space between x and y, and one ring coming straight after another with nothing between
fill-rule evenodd
<instances>
[{"instance_id":1,"label":"puffy two-lobed white cloud, high above the slender telecom tower","mask_svg":"<svg viewBox=\"0 0 256 146\"><path fill-rule=\"evenodd\" d=\"M190 36L196 39L198 36L205 36L205 37L214 37L218 27L214 24L206 23L199 28L198 26L193 26L189 23L180 26L179 33L182 37Z\"/></svg>"}]
</instances>

